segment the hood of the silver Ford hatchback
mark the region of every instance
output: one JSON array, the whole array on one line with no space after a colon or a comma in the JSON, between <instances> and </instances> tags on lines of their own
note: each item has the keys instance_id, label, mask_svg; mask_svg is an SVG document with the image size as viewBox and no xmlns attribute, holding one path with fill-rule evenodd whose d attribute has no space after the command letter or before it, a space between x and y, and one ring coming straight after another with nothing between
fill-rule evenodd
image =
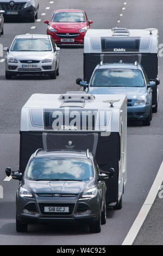
<instances>
[{"instance_id":1,"label":"hood of the silver Ford hatchback","mask_svg":"<svg viewBox=\"0 0 163 256\"><path fill-rule=\"evenodd\" d=\"M14 57L18 60L21 59L33 59L33 60L41 60L53 57L52 52L9 52L8 57Z\"/></svg>"}]
</instances>

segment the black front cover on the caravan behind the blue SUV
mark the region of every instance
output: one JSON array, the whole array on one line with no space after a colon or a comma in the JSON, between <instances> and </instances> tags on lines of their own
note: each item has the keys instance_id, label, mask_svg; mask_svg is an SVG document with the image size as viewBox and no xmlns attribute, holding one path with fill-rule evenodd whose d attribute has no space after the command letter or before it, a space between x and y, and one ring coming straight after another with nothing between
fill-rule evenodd
<instances>
[{"instance_id":1,"label":"black front cover on the caravan behind the blue SUV","mask_svg":"<svg viewBox=\"0 0 163 256\"><path fill-rule=\"evenodd\" d=\"M84 80L89 83L93 70L96 65L101 62L101 54L103 53L84 53ZM139 62L141 56L141 62ZM139 62L143 66L148 79L154 79L158 76L158 56L156 53L105 53L104 63L135 63Z\"/></svg>"}]
</instances>

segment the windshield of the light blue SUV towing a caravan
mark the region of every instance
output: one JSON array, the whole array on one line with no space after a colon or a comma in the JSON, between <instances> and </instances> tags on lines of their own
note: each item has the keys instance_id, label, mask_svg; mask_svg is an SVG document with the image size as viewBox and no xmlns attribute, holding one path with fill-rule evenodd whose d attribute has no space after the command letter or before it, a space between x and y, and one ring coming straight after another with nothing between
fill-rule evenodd
<instances>
[{"instance_id":1,"label":"windshield of the light blue SUV towing a caravan","mask_svg":"<svg viewBox=\"0 0 163 256\"><path fill-rule=\"evenodd\" d=\"M145 87L138 69L98 69L92 78L93 87Z\"/></svg>"}]
</instances>

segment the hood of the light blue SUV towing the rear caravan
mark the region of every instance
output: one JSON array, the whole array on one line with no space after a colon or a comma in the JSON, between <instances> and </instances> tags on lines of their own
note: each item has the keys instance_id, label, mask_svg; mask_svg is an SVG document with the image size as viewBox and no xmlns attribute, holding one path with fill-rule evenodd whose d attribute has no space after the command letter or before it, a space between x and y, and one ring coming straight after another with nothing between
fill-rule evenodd
<instances>
[{"instance_id":1,"label":"hood of the light blue SUV towing the rear caravan","mask_svg":"<svg viewBox=\"0 0 163 256\"><path fill-rule=\"evenodd\" d=\"M92 94L125 94L130 100L139 98L146 92L146 87L89 87Z\"/></svg>"}]
</instances>

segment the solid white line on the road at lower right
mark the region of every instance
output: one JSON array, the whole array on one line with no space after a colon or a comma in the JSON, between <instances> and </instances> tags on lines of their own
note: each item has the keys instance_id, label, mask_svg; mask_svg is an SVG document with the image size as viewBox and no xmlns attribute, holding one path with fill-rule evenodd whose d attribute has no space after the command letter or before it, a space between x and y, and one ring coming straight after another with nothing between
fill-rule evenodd
<instances>
[{"instance_id":1,"label":"solid white line on the road at lower right","mask_svg":"<svg viewBox=\"0 0 163 256\"><path fill-rule=\"evenodd\" d=\"M148 212L154 203L156 195L158 194L158 191L160 190L162 180L163 180L163 162L161 163L160 169L158 171L158 174L156 175L156 178L153 182L151 190L148 193L145 203L143 204L139 214L136 217L136 220L134 221L133 225L131 226L122 245L132 245L133 244L133 242L137 236L137 233L139 232L143 222L145 221L145 219L148 215Z\"/></svg>"}]
</instances>

